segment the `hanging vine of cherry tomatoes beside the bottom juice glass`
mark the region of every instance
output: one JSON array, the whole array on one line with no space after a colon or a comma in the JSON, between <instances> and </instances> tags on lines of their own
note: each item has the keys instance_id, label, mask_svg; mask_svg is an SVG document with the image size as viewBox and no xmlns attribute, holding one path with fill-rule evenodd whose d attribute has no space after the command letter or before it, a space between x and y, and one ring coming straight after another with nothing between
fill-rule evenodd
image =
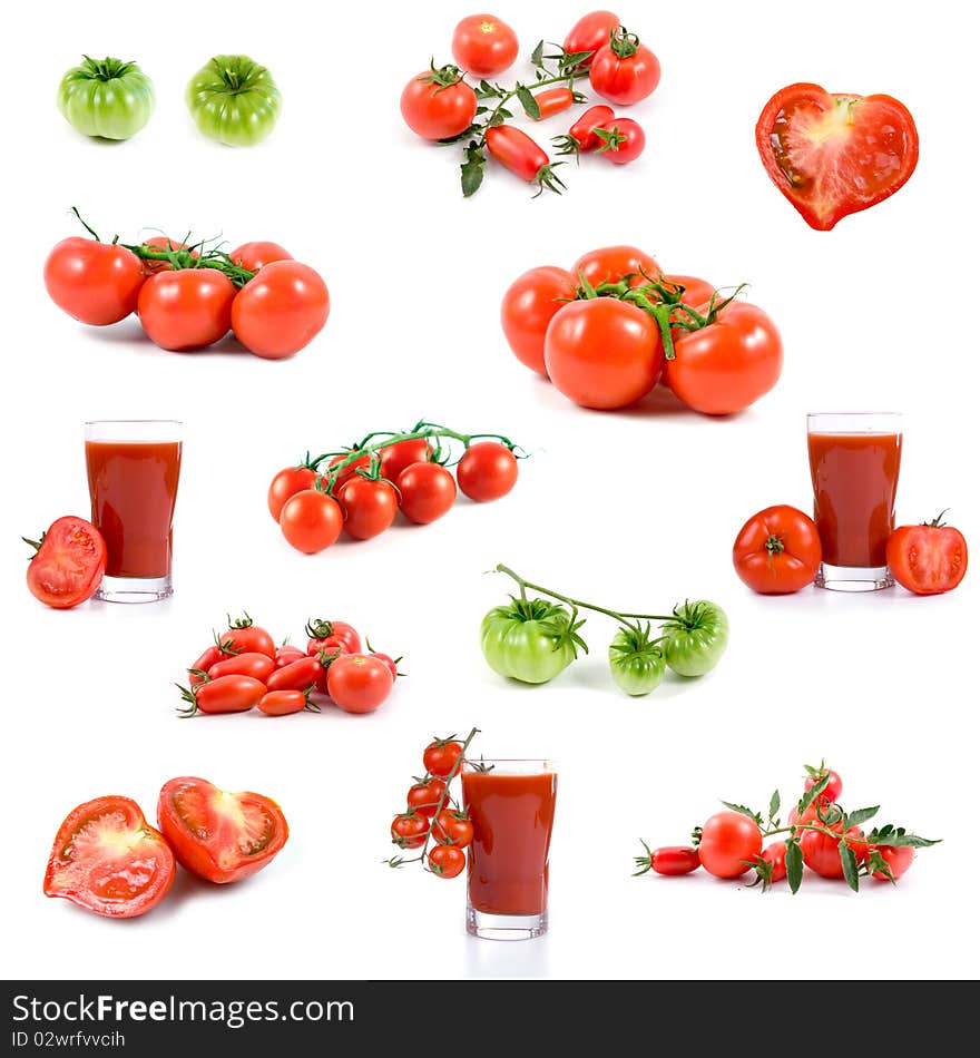
<instances>
[{"instance_id":1,"label":"hanging vine of cherry tomatoes beside the bottom juice glass","mask_svg":"<svg viewBox=\"0 0 980 1058\"><path fill-rule=\"evenodd\" d=\"M434 738L422 754L425 774L409 787L405 811L391 824L391 840L399 849L429 849L423 852L437 878L455 878L467 865L464 850L472 844L473 824L450 794L450 783L462 764L462 743L455 736ZM401 866L405 861L389 861Z\"/></svg>"}]
</instances>

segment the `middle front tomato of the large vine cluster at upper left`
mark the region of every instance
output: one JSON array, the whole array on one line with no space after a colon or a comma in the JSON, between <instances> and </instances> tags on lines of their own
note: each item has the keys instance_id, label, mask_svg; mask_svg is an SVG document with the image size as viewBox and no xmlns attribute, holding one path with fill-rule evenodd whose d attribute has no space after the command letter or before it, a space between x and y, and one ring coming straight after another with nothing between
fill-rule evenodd
<instances>
[{"instance_id":1,"label":"middle front tomato of the large vine cluster at upper left","mask_svg":"<svg viewBox=\"0 0 980 1058\"><path fill-rule=\"evenodd\" d=\"M228 333L235 294L217 268L158 272L139 292L139 322L160 349L203 349Z\"/></svg>"}]
</instances>

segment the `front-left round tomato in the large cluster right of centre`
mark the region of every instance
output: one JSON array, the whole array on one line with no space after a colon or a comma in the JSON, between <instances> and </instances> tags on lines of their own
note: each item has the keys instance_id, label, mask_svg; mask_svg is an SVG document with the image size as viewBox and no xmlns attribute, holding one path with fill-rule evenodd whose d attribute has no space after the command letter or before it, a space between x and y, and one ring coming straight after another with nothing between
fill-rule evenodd
<instances>
[{"instance_id":1,"label":"front-left round tomato in the large cluster right of centre","mask_svg":"<svg viewBox=\"0 0 980 1058\"><path fill-rule=\"evenodd\" d=\"M548 324L545 366L582 408L626 408L657 384L664 345L654 319L629 302L594 297L566 305Z\"/></svg>"}]
</instances>

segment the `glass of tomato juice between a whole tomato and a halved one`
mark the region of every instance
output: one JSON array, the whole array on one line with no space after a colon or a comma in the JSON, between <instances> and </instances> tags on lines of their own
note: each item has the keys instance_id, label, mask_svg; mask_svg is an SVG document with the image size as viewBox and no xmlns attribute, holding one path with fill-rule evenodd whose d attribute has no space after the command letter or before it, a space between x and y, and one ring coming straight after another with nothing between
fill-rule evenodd
<instances>
[{"instance_id":1,"label":"glass of tomato juice between a whole tomato and a halved one","mask_svg":"<svg viewBox=\"0 0 980 1058\"><path fill-rule=\"evenodd\" d=\"M814 584L835 591L894 585L885 562L895 528L902 417L820 412L806 417L813 519L823 561Z\"/></svg>"}]
</instances>

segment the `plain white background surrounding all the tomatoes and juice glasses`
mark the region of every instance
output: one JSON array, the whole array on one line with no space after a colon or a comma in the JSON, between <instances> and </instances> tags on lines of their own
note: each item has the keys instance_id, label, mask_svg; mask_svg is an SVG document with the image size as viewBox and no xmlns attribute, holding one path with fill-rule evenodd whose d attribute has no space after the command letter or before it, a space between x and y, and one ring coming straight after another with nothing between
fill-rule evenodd
<instances>
[{"instance_id":1,"label":"plain white background surrounding all the tomatoes and juice glasses","mask_svg":"<svg viewBox=\"0 0 980 1058\"><path fill-rule=\"evenodd\" d=\"M314 14L242 0L233 17L178 7L163 16L66 4L55 17L36 4L9 49L8 79L29 90L6 130L6 973L973 976L977 574L934 599L901 589L771 599L743 588L728 557L755 510L808 504L808 410L904 411L900 520L949 506L978 539L967 322L978 232L964 184L976 148L963 135L974 56L952 4L929 19L912 3L886 16L852 6L846 22L830 23L785 3L706 0L690 23L624 4L664 68L631 111L647 151L624 169L595 158L568 166L568 193L535 202L489 165L483 189L463 200L454 151L401 123L403 84L430 55L449 60L465 4L324 4ZM565 3L499 13L522 55L568 29ZM157 111L131 141L86 140L59 115L58 80L82 51L138 59L153 77ZM283 91L275 134L254 149L204 140L184 108L187 78L223 51L266 63ZM796 80L890 92L921 134L908 186L830 234L806 227L755 150L763 104ZM135 320L77 324L41 283L50 246L79 234L71 205L104 237L163 229L282 242L325 276L327 326L294 360L270 363L167 353ZM586 412L532 378L497 323L503 290L528 267L567 266L617 242L643 246L666 271L749 281L783 332L777 389L736 419L710 421L661 401ZM420 415L507 433L535 458L500 503L460 502L429 528L312 558L290 550L265 509L273 472L307 448ZM22 585L19 535L86 515L84 420L141 417L187 424L175 598L41 607ZM507 685L477 646L482 614L508 590L483 575L498 561L629 609L716 599L732 619L729 650L700 682L628 699L605 668L612 627L596 619L585 629L589 658L547 687ZM300 637L310 616L350 619L404 653L410 677L367 717L177 721L174 680L225 613L243 607L277 638ZM545 940L469 939L461 880L381 863L421 747L471 725L487 755L560 761ZM855 897L807 874L795 898L762 897L704 875L629 876L639 835L684 842L719 797L762 806L778 785L791 801L802 762L821 756L844 776L849 806L881 803L882 822L945 839L898 888ZM151 816L159 786L182 774L278 800L292 836L276 862L224 889L182 872L166 903L128 922L43 898L50 842L76 804L127 794Z\"/></svg>"}]
</instances>

